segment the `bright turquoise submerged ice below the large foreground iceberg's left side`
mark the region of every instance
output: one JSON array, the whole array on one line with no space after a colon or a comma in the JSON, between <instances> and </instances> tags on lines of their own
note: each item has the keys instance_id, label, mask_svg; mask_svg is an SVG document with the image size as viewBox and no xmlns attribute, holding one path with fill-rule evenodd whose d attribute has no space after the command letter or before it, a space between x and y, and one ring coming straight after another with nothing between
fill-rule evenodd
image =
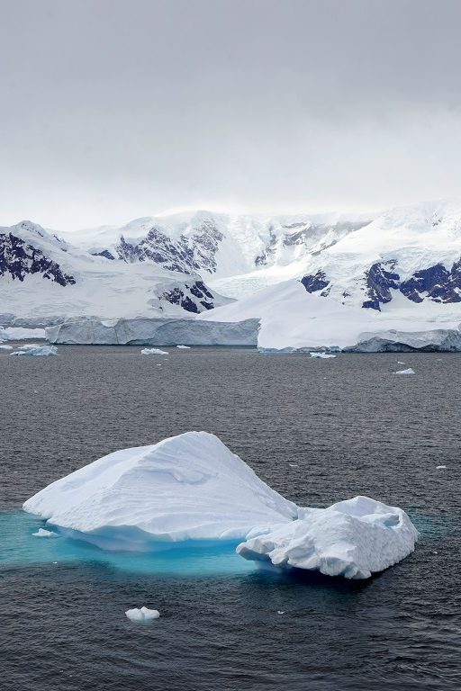
<instances>
[{"instance_id":1,"label":"bright turquoise submerged ice below the large foreground iceberg's left side","mask_svg":"<svg viewBox=\"0 0 461 691\"><path fill-rule=\"evenodd\" d=\"M162 552L106 552L68 537L36 537L39 528L52 530L43 520L22 510L0 513L0 565L99 562L131 573L165 576L224 577L254 571L255 566L235 553L238 543L210 547L182 544Z\"/></svg>"}]
</instances>

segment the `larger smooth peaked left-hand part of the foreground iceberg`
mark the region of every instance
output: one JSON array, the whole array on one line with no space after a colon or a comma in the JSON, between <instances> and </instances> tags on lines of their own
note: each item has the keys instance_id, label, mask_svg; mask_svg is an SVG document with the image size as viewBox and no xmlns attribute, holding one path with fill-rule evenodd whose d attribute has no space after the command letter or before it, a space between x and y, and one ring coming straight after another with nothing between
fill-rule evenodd
<instances>
[{"instance_id":1,"label":"larger smooth peaked left-hand part of the foreground iceberg","mask_svg":"<svg viewBox=\"0 0 461 691\"><path fill-rule=\"evenodd\" d=\"M217 436L187 432L110 453L24 504L105 549L149 551L186 540L239 543L298 516ZM166 544L167 543L167 544Z\"/></svg>"}]
</instances>

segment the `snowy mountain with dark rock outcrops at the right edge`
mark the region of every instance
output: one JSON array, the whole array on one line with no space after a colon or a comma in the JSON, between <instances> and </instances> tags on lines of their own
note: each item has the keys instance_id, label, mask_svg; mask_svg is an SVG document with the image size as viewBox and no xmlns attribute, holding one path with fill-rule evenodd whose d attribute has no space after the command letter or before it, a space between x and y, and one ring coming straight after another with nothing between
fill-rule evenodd
<instances>
[{"instance_id":1,"label":"snowy mountain with dark rock outcrops at the right edge","mask_svg":"<svg viewBox=\"0 0 461 691\"><path fill-rule=\"evenodd\" d=\"M388 211L309 256L308 292L373 310L461 302L461 201Z\"/></svg>"}]
</instances>

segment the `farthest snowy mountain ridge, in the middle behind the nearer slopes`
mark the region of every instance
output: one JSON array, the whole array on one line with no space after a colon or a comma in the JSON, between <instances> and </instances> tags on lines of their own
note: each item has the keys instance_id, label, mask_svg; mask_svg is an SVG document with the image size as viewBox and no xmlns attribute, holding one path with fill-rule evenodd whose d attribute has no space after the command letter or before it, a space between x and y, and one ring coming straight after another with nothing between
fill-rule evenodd
<instances>
[{"instance_id":1,"label":"farthest snowy mountain ridge, in the middle behind the nearer slopes","mask_svg":"<svg viewBox=\"0 0 461 691\"><path fill-rule=\"evenodd\" d=\"M192 211L73 235L90 254L108 261L153 263L169 271L198 272L214 282L230 278L231 283L239 275L262 275L265 269L303 261L367 222L360 215L265 218Z\"/></svg>"}]
</instances>

